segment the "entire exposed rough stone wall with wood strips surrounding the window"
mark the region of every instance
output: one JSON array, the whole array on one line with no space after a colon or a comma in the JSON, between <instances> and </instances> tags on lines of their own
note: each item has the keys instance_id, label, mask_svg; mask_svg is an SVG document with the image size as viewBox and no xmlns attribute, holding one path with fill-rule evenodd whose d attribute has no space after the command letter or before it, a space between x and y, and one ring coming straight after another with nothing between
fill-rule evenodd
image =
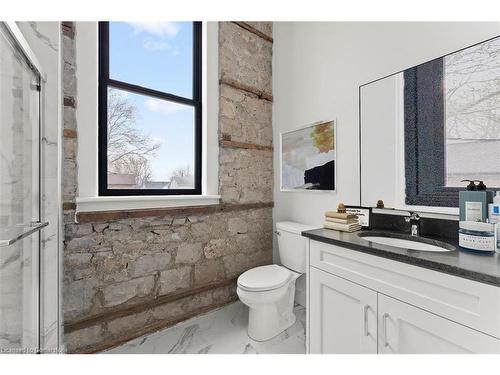
<instances>
[{"instance_id":1,"label":"entire exposed rough stone wall with wood strips surrounding the window","mask_svg":"<svg viewBox=\"0 0 500 375\"><path fill-rule=\"evenodd\" d=\"M63 36L63 310L69 352L95 352L234 301L235 278L272 262L272 25L257 24L259 29L219 26L224 204L144 210L134 218L75 217L78 35L71 24L63 26L63 32L71 30Z\"/></svg>"}]
</instances>

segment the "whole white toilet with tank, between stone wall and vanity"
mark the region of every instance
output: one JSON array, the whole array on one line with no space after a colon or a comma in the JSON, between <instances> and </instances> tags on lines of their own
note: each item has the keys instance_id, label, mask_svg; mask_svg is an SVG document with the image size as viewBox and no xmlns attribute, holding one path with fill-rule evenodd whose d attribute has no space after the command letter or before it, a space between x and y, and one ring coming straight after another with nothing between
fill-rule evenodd
<instances>
[{"instance_id":1,"label":"whole white toilet with tank, between stone wall and vanity","mask_svg":"<svg viewBox=\"0 0 500 375\"><path fill-rule=\"evenodd\" d=\"M276 223L282 265L252 268L238 277L236 292L249 307L248 336L266 341L295 323L295 281L306 272L306 239L301 233L314 227L283 221Z\"/></svg>"}]
</instances>

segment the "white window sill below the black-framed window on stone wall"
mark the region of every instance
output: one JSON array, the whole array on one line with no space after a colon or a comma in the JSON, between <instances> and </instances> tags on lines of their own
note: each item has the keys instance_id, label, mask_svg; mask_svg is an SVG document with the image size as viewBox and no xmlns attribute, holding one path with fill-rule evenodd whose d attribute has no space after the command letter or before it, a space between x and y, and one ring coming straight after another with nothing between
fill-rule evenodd
<instances>
[{"instance_id":1,"label":"white window sill below the black-framed window on stone wall","mask_svg":"<svg viewBox=\"0 0 500 375\"><path fill-rule=\"evenodd\" d=\"M140 210L206 206L220 203L220 195L150 195L126 197L78 197L77 212Z\"/></svg>"}]
</instances>

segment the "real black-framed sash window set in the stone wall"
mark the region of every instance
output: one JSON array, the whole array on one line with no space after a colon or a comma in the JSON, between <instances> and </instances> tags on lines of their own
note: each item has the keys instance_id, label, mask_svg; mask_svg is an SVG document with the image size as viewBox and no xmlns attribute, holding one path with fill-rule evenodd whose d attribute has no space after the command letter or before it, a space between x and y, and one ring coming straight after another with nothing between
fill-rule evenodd
<instances>
[{"instance_id":1,"label":"real black-framed sash window set in the stone wall","mask_svg":"<svg viewBox=\"0 0 500 375\"><path fill-rule=\"evenodd\" d=\"M201 194L201 22L99 22L99 195Z\"/></svg>"}]
</instances>

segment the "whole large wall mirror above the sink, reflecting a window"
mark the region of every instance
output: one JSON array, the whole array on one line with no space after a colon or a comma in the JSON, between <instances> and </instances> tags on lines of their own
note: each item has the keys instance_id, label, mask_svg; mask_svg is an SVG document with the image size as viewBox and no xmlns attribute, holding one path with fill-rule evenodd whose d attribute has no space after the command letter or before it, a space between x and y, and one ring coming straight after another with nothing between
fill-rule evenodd
<instances>
[{"instance_id":1,"label":"whole large wall mirror above the sink, reflecting a window","mask_svg":"<svg viewBox=\"0 0 500 375\"><path fill-rule=\"evenodd\" d=\"M500 38L360 87L361 204L457 207L500 188Z\"/></svg>"}]
</instances>

